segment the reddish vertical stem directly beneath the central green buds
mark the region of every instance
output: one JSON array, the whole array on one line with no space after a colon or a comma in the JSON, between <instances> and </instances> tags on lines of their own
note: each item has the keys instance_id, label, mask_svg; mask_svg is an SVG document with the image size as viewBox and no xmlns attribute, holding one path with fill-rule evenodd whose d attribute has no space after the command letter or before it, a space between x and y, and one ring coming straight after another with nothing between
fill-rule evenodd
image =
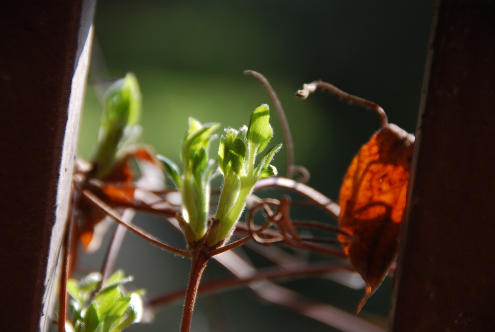
<instances>
[{"instance_id":1,"label":"reddish vertical stem directly beneath the central green buds","mask_svg":"<svg viewBox=\"0 0 495 332\"><path fill-rule=\"evenodd\" d=\"M189 332L191 327L199 282L201 281L204 268L210 259L210 256L208 256L203 249L204 247L202 245L198 245L193 250L191 274L189 275L189 283L187 285L186 298L184 300L184 311L182 312L181 332Z\"/></svg>"}]
</instances>

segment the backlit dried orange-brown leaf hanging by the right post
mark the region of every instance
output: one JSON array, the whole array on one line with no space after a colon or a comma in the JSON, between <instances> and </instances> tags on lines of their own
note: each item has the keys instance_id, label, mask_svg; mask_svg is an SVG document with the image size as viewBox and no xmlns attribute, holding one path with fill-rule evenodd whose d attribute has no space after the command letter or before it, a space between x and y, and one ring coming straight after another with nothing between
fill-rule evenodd
<instances>
[{"instance_id":1,"label":"backlit dried orange-brown leaf hanging by the right post","mask_svg":"<svg viewBox=\"0 0 495 332\"><path fill-rule=\"evenodd\" d=\"M350 263L366 282L366 300L387 276L397 254L414 136L394 124L376 133L352 159L342 184L339 235Z\"/></svg>"}]
</instances>

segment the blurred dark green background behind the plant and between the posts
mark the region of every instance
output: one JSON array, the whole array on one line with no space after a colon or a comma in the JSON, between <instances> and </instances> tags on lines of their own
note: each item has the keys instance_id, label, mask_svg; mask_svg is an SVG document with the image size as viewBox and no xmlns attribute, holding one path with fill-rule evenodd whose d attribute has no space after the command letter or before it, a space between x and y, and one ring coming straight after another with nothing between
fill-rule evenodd
<instances>
[{"instance_id":1,"label":"blurred dark green background behind the plant and between the posts","mask_svg":"<svg viewBox=\"0 0 495 332\"><path fill-rule=\"evenodd\" d=\"M276 134L272 142L282 142L270 98L258 81L243 75L252 69L267 77L281 99L296 164L310 171L309 185L337 199L352 156L379 129L379 117L328 93L308 100L298 100L294 93L303 83L328 81L377 102L390 122L414 132L432 12L430 0L99 1L79 152L89 157L96 140L98 95L106 79L129 71L141 84L145 141L176 162L189 116L238 128L247 124L255 107L268 103ZM281 174L284 161L282 151L275 162ZM312 213L299 217L325 220ZM184 245L158 217L140 215L136 223ZM83 257L82 268L99 269L99 257L101 253ZM127 235L117 264L150 296L185 286L189 273L187 260L133 235ZM212 263L206 278L226 275L223 271ZM284 285L349 312L363 294L315 278ZM391 288L387 280L361 315L386 326ZM167 306L151 325L129 331L178 331L181 310L181 303ZM193 331L205 332L274 329L334 331L242 289L200 298L193 323Z\"/></svg>"}]
</instances>

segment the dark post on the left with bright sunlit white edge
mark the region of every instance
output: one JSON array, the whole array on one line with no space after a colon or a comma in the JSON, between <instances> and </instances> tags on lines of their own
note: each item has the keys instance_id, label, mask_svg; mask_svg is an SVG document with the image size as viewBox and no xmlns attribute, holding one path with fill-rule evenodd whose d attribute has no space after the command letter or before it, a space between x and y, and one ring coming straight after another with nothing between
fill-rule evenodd
<instances>
[{"instance_id":1,"label":"dark post on the left with bright sunlit white edge","mask_svg":"<svg viewBox=\"0 0 495 332\"><path fill-rule=\"evenodd\" d=\"M0 4L0 330L48 331L95 0Z\"/></svg>"}]
</instances>

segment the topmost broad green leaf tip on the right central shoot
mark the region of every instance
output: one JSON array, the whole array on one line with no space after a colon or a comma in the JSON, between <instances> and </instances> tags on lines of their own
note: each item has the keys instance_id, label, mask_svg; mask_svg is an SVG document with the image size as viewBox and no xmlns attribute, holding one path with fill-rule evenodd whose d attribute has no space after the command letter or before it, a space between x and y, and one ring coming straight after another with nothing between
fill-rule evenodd
<instances>
[{"instance_id":1,"label":"topmost broad green leaf tip on the right central shoot","mask_svg":"<svg viewBox=\"0 0 495 332\"><path fill-rule=\"evenodd\" d=\"M257 107L251 114L251 120L247 129L247 142L255 149L256 153L261 152L272 139L273 129L270 126L270 110L268 105L263 104Z\"/></svg>"}]
</instances>

